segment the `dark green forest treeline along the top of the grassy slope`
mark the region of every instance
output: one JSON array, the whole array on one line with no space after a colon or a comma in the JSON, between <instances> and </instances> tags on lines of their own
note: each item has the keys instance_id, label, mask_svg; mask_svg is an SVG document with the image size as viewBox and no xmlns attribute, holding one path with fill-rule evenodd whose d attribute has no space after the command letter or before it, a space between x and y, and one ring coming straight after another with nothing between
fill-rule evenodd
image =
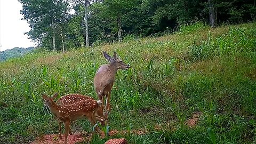
<instances>
[{"instance_id":1,"label":"dark green forest treeline along the top of the grassy slope","mask_svg":"<svg viewBox=\"0 0 256 144\"><path fill-rule=\"evenodd\" d=\"M40 47L67 50L172 33L203 21L212 27L256 18L255 0L18 0Z\"/></svg>"}]
</instances>

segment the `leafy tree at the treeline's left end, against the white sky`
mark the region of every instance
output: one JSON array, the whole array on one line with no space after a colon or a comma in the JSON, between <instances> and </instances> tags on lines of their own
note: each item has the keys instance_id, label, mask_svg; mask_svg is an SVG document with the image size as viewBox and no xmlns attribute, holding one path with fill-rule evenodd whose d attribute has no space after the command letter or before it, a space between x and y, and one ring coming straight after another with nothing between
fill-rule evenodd
<instances>
[{"instance_id":1,"label":"leafy tree at the treeline's left end, against the white sky","mask_svg":"<svg viewBox=\"0 0 256 144\"><path fill-rule=\"evenodd\" d=\"M31 30L27 33L33 41L43 47L50 48L49 37L52 38L52 50L56 50L56 26L63 22L68 12L68 4L59 0L19 0L22 4L21 14L27 20ZM58 43L59 44L59 43Z\"/></svg>"}]
</instances>

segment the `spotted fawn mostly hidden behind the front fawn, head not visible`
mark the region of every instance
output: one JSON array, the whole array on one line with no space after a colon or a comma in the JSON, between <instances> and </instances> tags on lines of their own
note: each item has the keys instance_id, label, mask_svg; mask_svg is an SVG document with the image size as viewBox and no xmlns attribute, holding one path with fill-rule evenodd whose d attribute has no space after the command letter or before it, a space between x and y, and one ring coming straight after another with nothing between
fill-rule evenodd
<instances>
[{"instance_id":1,"label":"spotted fawn mostly hidden behind the front fawn, head not visible","mask_svg":"<svg viewBox=\"0 0 256 144\"><path fill-rule=\"evenodd\" d=\"M62 97L60 97L57 101L56 104L58 106L63 106L63 105L71 105L75 102L79 102L81 100L86 100L86 99L91 99L94 100L92 97L88 97L86 95L82 95L82 94L77 94L77 93L71 93L71 94L67 94L67 95L63 95ZM101 111L100 109L97 111L98 113L95 113L95 116L92 117L93 121L99 121L101 123L102 126L105 125L105 123L103 121L101 121L101 117L103 117L103 106L101 106ZM61 138L61 123L59 121L59 138ZM69 132L70 135L72 135L70 127L69 127Z\"/></svg>"}]
</instances>

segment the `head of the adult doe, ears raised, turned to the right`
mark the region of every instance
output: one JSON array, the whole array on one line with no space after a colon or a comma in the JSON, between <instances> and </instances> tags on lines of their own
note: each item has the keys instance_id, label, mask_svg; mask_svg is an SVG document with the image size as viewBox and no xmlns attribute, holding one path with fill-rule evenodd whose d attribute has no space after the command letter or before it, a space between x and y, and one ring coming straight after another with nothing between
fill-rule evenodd
<instances>
[{"instance_id":1,"label":"head of the adult doe, ears raised, turned to the right","mask_svg":"<svg viewBox=\"0 0 256 144\"><path fill-rule=\"evenodd\" d=\"M127 65L123 60L117 58L116 52L111 57L107 52L103 51L104 57L109 60L110 65L114 65L117 69L129 69L131 66Z\"/></svg>"}]
</instances>

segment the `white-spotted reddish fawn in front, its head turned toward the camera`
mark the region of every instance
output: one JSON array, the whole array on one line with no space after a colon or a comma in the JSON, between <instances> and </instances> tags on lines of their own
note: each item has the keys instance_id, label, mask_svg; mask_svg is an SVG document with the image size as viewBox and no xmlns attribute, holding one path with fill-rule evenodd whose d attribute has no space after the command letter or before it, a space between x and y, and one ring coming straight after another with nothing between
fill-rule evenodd
<instances>
[{"instance_id":1,"label":"white-spotted reddish fawn in front, its head turned toward the camera","mask_svg":"<svg viewBox=\"0 0 256 144\"><path fill-rule=\"evenodd\" d=\"M47 95L42 94L42 97L45 105L50 108L52 114L58 118L59 122L63 122L65 124L65 144L67 144L71 121L87 118L92 126L95 124L95 119L99 119L102 123L105 121L101 107L101 100L96 101L93 99L85 99L79 100L78 102L74 102L70 105L58 106L53 101L53 99L57 98L57 95L58 93L55 93L52 97L47 97Z\"/></svg>"}]
</instances>

